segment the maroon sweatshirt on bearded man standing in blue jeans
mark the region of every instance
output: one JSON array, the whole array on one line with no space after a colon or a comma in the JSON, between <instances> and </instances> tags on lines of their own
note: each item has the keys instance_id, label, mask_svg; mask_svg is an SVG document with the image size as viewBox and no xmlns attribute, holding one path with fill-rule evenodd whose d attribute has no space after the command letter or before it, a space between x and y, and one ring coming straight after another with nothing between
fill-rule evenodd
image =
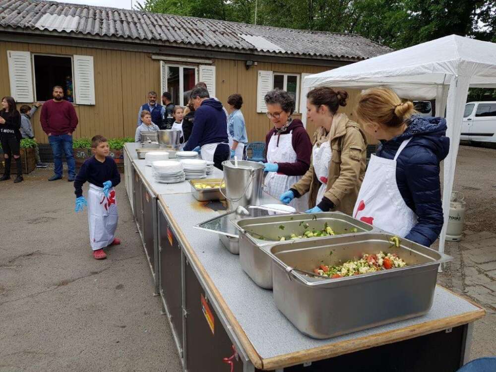
<instances>
[{"instance_id":1,"label":"maroon sweatshirt on bearded man standing in blue jeans","mask_svg":"<svg viewBox=\"0 0 496 372\"><path fill-rule=\"evenodd\" d=\"M40 123L47 134L61 135L76 130L76 110L68 101L46 101L41 107Z\"/></svg>"}]
</instances>

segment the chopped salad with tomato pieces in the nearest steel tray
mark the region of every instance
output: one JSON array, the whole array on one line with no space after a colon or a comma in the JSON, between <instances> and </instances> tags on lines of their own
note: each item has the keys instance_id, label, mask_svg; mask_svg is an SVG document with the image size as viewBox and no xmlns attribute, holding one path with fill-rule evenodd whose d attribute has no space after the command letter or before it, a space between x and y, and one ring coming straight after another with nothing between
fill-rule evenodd
<instances>
[{"instance_id":1,"label":"chopped salad with tomato pieces in the nearest steel tray","mask_svg":"<svg viewBox=\"0 0 496 372\"><path fill-rule=\"evenodd\" d=\"M320 265L313 269L313 272L329 278L342 278L404 266L406 266L406 262L398 257L396 253L380 251L377 254L366 253L359 260L348 260L340 265Z\"/></svg>"}]
</instances>

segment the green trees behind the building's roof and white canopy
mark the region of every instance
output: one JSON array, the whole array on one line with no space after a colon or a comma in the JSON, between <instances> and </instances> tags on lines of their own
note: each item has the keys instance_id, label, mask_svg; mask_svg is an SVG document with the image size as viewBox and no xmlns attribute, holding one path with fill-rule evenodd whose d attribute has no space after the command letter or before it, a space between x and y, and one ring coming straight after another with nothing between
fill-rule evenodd
<instances>
[{"instance_id":1,"label":"green trees behind the building's roof and white canopy","mask_svg":"<svg viewBox=\"0 0 496 372\"><path fill-rule=\"evenodd\" d=\"M137 8L244 23L357 33L393 49L457 34L496 42L494 0L144 0Z\"/></svg>"}]
</instances>

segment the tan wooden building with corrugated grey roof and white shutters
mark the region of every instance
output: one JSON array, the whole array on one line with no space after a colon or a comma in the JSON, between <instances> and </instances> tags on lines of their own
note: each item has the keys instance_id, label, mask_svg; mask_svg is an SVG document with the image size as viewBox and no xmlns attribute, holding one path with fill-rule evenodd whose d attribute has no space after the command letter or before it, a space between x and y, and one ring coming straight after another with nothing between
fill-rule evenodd
<instances>
[{"instance_id":1,"label":"tan wooden building with corrugated grey roof and white shutters","mask_svg":"<svg viewBox=\"0 0 496 372\"><path fill-rule=\"evenodd\" d=\"M0 96L20 104L62 85L79 118L76 137L133 136L149 91L185 104L198 81L226 103L243 96L248 140L271 128L263 96L275 87L305 112L306 74L389 52L358 35L256 26L52 1L0 1ZM344 112L352 115L356 92ZM48 139L33 118L40 143ZM307 129L314 130L311 123Z\"/></svg>"}]
</instances>

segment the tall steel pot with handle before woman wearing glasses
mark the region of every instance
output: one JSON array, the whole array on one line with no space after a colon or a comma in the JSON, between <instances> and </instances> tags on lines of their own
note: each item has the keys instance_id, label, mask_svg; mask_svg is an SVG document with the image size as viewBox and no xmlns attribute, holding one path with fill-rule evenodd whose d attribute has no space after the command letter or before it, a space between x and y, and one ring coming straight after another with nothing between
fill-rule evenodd
<instances>
[{"instance_id":1,"label":"tall steel pot with handle before woman wearing glasses","mask_svg":"<svg viewBox=\"0 0 496 372\"><path fill-rule=\"evenodd\" d=\"M239 205L258 205L262 193L263 165L257 162L238 160L222 162L228 210L234 211ZM221 190L222 192L222 190Z\"/></svg>"}]
</instances>

